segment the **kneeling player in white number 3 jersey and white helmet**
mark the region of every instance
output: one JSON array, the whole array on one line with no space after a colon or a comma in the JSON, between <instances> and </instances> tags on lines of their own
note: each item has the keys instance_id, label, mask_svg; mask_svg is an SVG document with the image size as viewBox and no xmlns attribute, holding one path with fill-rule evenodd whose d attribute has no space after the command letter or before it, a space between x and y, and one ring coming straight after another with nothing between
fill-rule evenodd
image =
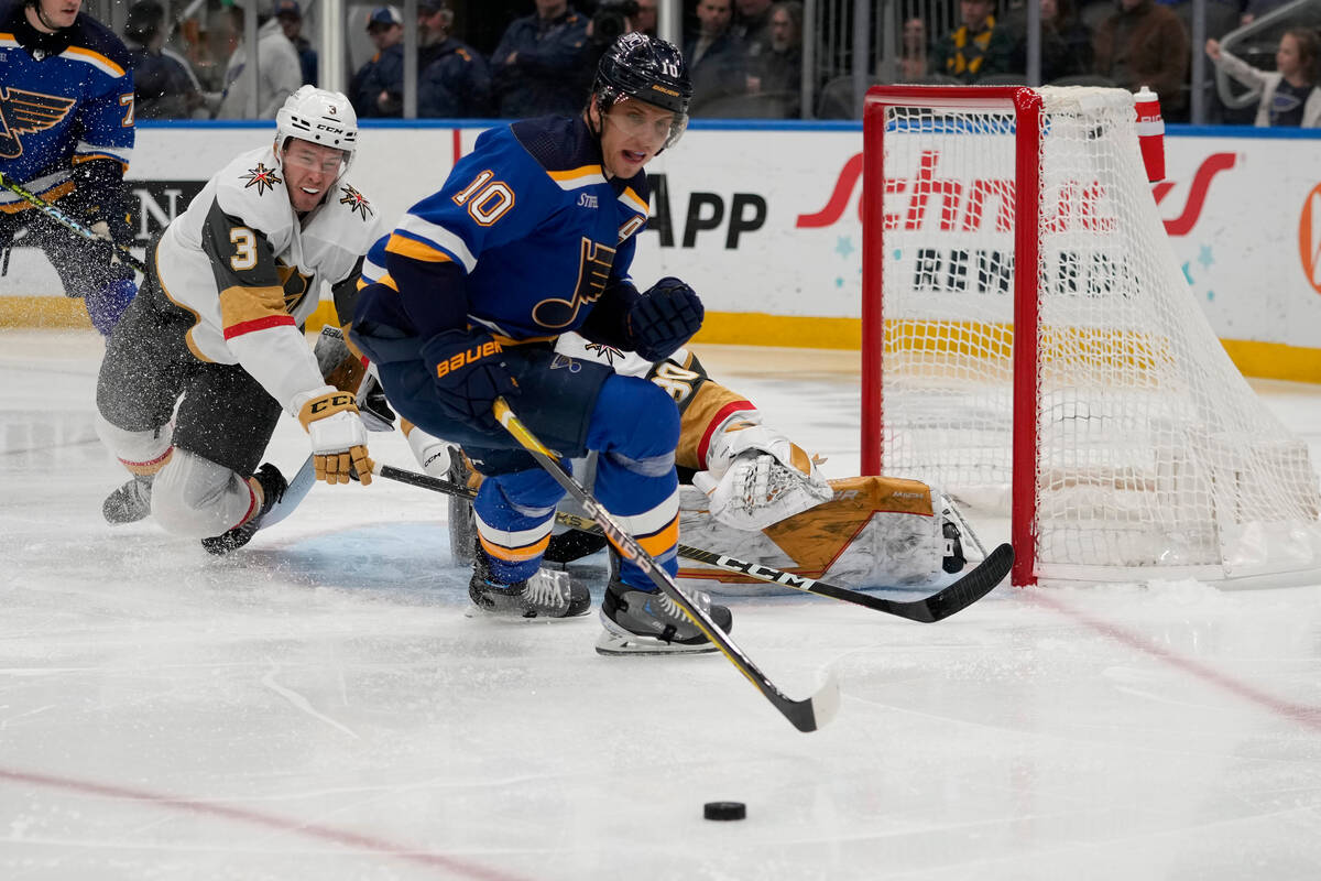
<instances>
[{"instance_id":1,"label":"kneeling player in white number 3 jersey and white helmet","mask_svg":"<svg viewBox=\"0 0 1321 881\"><path fill-rule=\"evenodd\" d=\"M242 547L287 486L258 469L281 411L318 478L346 483L353 466L370 482L351 390L326 384L303 334L322 285L355 284L383 231L345 177L357 140L343 95L299 88L272 143L211 177L149 250L96 386L98 433L133 474L106 499L110 523L155 514L213 553Z\"/></svg>"}]
</instances>

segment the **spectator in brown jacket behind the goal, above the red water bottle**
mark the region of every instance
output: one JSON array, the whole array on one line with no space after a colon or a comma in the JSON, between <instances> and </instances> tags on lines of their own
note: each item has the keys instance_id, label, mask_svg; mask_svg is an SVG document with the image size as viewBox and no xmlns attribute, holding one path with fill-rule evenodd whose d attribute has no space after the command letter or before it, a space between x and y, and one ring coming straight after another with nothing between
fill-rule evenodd
<instances>
[{"instance_id":1,"label":"spectator in brown jacket behind the goal, above the red water bottle","mask_svg":"<svg viewBox=\"0 0 1321 881\"><path fill-rule=\"evenodd\" d=\"M1160 95L1166 122L1186 118L1188 32L1169 7L1155 0L1119 0L1092 36L1094 71L1119 86Z\"/></svg>"}]
</instances>

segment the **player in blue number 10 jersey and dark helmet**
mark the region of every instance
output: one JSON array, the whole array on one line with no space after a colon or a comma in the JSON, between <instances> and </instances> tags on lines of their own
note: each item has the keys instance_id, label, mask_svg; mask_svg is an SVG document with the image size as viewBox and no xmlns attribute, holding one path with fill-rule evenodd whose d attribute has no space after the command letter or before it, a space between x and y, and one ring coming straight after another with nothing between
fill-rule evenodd
<instances>
[{"instance_id":1,"label":"player in blue number 10 jersey and dark helmet","mask_svg":"<svg viewBox=\"0 0 1321 881\"><path fill-rule=\"evenodd\" d=\"M601 503L668 572L678 568L674 403L645 379L552 346L577 330L659 359L700 326L688 285L663 279L641 293L629 277L650 210L643 169L683 133L691 94L672 45L620 37L581 115L478 137L441 190L403 217L387 275L358 297L350 337L390 403L458 442L486 477L469 586L481 609L572 617L590 608L584 585L540 569L564 493L495 423L499 395L563 456L598 450ZM728 629L729 610L709 608ZM602 654L713 650L627 560L606 586L601 621Z\"/></svg>"}]
</instances>

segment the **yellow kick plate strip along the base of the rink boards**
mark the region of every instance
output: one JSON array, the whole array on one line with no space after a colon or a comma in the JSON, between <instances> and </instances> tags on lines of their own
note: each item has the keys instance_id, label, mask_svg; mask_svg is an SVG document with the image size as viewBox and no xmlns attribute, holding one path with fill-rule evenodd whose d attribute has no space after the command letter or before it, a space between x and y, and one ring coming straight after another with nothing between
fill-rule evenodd
<instances>
[{"instance_id":1,"label":"yellow kick plate strip along the base of the rink boards","mask_svg":"<svg viewBox=\"0 0 1321 881\"><path fill-rule=\"evenodd\" d=\"M322 325L336 322L334 306L322 301L308 318L308 330L318 333ZM918 324L918 322L906 322ZM0 328L91 328L82 301L67 297L0 297ZM935 347L935 342L905 329L914 350ZM956 337L967 342L972 338L972 325ZM1008 330L993 337L1000 346L1008 345ZM863 322L859 318L819 318L803 316L773 316L761 312L708 312L705 322L694 342L728 343L740 346L786 346L791 349L857 350L863 342ZM1077 342L1077 341L1075 341ZM1092 342L1096 342L1094 339ZM947 343L942 343L947 345ZM1321 349L1305 349L1281 342L1254 339L1222 339L1221 345L1246 376L1321 383Z\"/></svg>"}]
</instances>

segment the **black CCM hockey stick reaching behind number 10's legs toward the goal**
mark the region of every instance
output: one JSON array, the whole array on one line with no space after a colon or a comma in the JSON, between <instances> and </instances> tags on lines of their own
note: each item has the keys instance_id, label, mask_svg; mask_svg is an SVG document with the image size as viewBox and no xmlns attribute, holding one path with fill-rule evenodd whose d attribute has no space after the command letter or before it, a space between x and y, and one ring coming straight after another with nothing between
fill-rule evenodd
<instances>
[{"instance_id":1,"label":"black CCM hockey stick reaching behind number 10's legs toward the goal","mask_svg":"<svg viewBox=\"0 0 1321 881\"><path fill-rule=\"evenodd\" d=\"M458 495L461 498L470 499L477 495L477 493L466 486L462 486L461 483L445 481L439 477L429 477L427 474L417 474L415 472L406 472L404 469L394 468L392 465L380 465L378 462L373 469L373 474L384 477L390 481L399 481L400 483L410 483L412 486L420 486L439 493L448 493L449 495ZM560 526L583 530L584 532L601 531L601 527L592 520L581 518L576 514L567 514L564 511L557 511L555 514L555 522ZM715 551L703 551L701 548L695 548L687 544L679 546L679 556L687 560L707 563L727 572L746 575L748 577L757 579L768 584L778 584L793 590L815 593L816 596L840 600L841 602L852 602L868 609L875 609L876 612L884 612L886 614L908 618L909 621L919 621L922 623L943 621L955 612L968 608L985 594L991 593L991 590L993 590L996 585L1004 580L1004 576L1009 575L1009 567L1013 565L1013 548L1008 544L1001 544L984 560L972 567L972 569L959 576L959 580L954 584L950 584L922 600L898 601L873 597L859 590L840 588L834 584L827 584L826 581L808 579L807 576L794 575L793 572L785 572L783 569L762 565L760 563L748 563L746 560L740 560L738 557L716 553Z\"/></svg>"}]
</instances>

